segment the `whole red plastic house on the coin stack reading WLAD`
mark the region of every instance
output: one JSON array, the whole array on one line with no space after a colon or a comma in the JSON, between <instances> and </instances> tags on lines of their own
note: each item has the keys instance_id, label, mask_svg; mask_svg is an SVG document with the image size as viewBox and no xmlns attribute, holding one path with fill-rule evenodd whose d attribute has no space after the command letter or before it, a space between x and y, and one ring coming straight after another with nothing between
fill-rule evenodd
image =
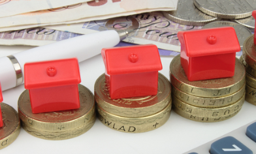
<instances>
[{"instance_id":1,"label":"whole red plastic house on the coin stack reading WLAD","mask_svg":"<svg viewBox=\"0 0 256 154\"><path fill-rule=\"evenodd\" d=\"M158 70L163 68L157 46L103 48L101 55L112 99L157 95Z\"/></svg>"}]
</instances>

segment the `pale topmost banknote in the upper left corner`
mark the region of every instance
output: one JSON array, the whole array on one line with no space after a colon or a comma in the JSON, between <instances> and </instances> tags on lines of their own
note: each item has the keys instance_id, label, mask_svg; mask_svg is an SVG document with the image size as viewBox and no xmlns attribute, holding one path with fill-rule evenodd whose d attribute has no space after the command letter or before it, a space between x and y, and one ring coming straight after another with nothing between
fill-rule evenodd
<instances>
[{"instance_id":1,"label":"pale topmost banknote in the upper left corner","mask_svg":"<svg viewBox=\"0 0 256 154\"><path fill-rule=\"evenodd\" d=\"M92 0L0 0L0 18L25 12L65 7Z\"/></svg>"}]
</instances>

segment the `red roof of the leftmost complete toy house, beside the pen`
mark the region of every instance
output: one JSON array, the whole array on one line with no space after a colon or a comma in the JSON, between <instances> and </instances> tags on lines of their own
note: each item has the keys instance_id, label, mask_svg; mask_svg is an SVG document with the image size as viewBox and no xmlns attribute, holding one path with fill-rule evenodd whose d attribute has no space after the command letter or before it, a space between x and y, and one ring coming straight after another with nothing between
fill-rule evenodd
<instances>
[{"instance_id":1,"label":"red roof of the leftmost complete toy house, beside the pen","mask_svg":"<svg viewBox=\"0 0 256 154\"><path fill-rule=\"evenodd\" d=\"M25 63L24 65L25 89L72 85L80 82L76 58Z\"/></svg>"}]
</instances>

